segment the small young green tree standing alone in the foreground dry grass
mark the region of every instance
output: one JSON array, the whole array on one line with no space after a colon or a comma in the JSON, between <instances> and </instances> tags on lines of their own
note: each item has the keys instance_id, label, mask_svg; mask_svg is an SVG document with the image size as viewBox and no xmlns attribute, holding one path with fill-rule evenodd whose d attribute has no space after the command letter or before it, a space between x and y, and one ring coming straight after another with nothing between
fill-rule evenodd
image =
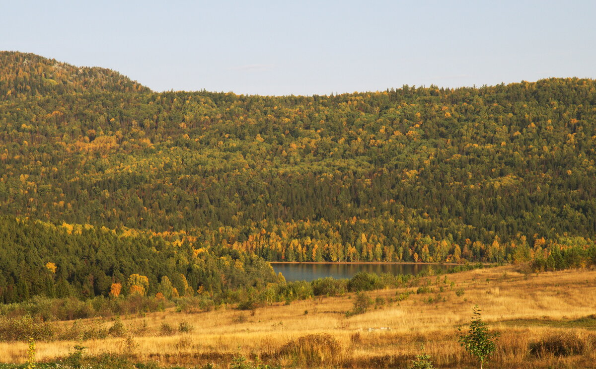
<instances>
[{"instance_id":1,"label":"small young green tree standing alone in the foreground dry grass","mask_svg":"<svg viewBox=\"0 0 596 369\"><path fill-rule=\"evenodd\" d=\"M458 330L461 333L461 328L458 328ZM460 345L480 361L480 369L482 369L484 362L495 352L496 337L498 336L498 333L488 331L488 325L482 321L480 309L476 305L473 309L468 334L460 334Z\"/></svg>"}]
</instances>

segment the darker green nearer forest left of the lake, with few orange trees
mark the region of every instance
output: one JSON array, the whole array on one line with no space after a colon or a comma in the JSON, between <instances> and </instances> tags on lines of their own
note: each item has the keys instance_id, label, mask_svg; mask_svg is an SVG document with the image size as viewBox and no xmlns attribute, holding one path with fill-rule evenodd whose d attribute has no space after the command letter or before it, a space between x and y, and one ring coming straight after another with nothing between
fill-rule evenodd
<instances>
[{"instance_id":1,"label":"darker green nearer forest left of the lake, with few orange trees","mask_svg":"<svg viewBox=\"0 0 596 369\"><path fill-rule=\"evenodd\" d=\"M210 295L277 282L267 262L131 230L0 217L0 303L138 294ZM175 296L172 296L172 295Z\"/></svg>"}]
</instances>

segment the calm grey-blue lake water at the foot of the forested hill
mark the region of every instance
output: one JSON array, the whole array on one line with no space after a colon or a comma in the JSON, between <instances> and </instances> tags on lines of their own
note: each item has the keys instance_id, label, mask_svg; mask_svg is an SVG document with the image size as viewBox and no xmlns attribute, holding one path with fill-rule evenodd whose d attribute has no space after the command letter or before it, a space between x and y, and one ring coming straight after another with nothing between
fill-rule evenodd
<instances>
[{"instance_id":1,"label":"calm grey-blue lake water at the foot of the forested hill","mask_svg":"<svg viewBox=\"0 0 596 369\"><path fill-rule=\"evenodd\" d=\"M316 278L351 278L354 274L365 271L371 273L417 274L428 269L421 264L307 264L307 263L271 263L276 273L281 272L286 281L312 281ZM451 265L432 265L434 269L447 270Z\"/></svg>"}]
</instances>

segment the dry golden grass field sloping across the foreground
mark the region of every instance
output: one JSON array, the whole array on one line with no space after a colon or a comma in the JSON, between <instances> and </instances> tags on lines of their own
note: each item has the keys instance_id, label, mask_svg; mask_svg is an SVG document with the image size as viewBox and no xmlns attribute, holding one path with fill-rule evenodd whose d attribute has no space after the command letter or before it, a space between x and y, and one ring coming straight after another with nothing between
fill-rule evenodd
<instances>
[{"instance_id":1,"label":"dry golden grass field sloping across the foreground","mask_svg":"<svg viewBox=\"0 0 596 369\"><path fill-rule=\"evenodd\" d=\"M479 365L458 344L457 327L467 329L478 305L483 320L501 334L485 368L596 368L594 270L536 275L501 266L425 277L406 289L368 294L377 303L352 317L345 312L352 309L353 294L254 311L229 307L122 317L124 337L83 345L88 354L113 352L187 367L209 362L226 367L240 353L283 367L406 368L424 344L436 367L473 368ZM114 321L81 324L111 327ZM321 333L329 336L299 340ZM38 342L36 358L65 356L79 343ZM0 361L25 362L26 349L26 343L0 343Z\"/></svg>"}]
</instances>

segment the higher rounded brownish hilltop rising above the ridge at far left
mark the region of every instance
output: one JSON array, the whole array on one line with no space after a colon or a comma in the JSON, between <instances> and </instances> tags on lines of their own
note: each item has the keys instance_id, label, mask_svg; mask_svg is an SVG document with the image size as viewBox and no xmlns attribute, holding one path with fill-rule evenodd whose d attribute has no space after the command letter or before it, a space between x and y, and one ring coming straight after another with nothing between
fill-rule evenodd
<instances>
[{"instance_id":1,"label":"higher rounded brownish hilltop rising above the ridge at far left","mask_svg":"<svg viewBox=\"0 0 596 369\"><path fill-rule=\"evenodd\" d=\"M151 92L111 69L77 67L32 53L0 51L0 98L15 94Z\"/></svg>"}]
</instances>

